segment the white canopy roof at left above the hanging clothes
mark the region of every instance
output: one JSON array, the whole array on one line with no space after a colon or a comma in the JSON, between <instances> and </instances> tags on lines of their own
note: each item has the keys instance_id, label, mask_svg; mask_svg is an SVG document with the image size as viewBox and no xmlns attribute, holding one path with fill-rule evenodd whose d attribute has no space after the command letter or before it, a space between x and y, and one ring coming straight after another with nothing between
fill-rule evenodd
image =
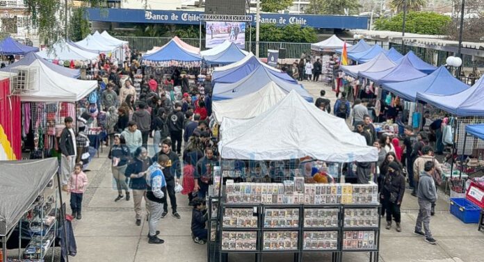
<instances>
[{"instance_id":1,"label":"white canopy roof at left above the hanging clothes","mask_svg":"<svg viewBox=\"0 0 484 262\"><path fill-rule=\"evenodd\" d=\"M35 69L37 74L32 83L32 92L19 94L22 101L30 102L76 102L97 88L97 81L83 81L72 79L54 72L40 60L35 60L28 67L20 65L18 68ZM0 72L0 76L12 76L11 73Z\"/></svg>"}]
</instances>

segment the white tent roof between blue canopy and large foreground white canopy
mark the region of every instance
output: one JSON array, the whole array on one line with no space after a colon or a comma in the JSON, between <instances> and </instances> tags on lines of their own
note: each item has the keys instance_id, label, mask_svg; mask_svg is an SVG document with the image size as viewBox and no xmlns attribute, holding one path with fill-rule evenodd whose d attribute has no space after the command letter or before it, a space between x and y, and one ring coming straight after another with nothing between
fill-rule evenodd
<instances>
[{"instance_id":1,"label":"white tent roof between blue canopy and large foreground white canopy","mask_svg":"<svg viewBox=\"0 0 484 262\"><path fill-rule=\"evenodd\" d=\"M232 119L257 117L257 115L266 112L277 104L286 95L287 92L284 92L277 83L271 81L252 94L234 99L213 101L213 116L218 123L222 122L225 117Z\"/></svg>"}]
</instances>

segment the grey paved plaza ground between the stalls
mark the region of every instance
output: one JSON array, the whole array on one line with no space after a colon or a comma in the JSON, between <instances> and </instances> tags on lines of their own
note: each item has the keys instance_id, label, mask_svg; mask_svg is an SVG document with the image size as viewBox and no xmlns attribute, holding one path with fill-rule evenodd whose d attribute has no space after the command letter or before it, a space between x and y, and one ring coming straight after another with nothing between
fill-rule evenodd
<instances>
[{"instance_id":1,"label":"grey paved plaza ground between the stalls","mask_svg":"<svg viewBox=\"0 0 484 262\"><path fill-rule=\"evenodd\" d=\"M318 97L321 83L303 82L305 87ZM334 93L328 90L327 97ZM77 241L77 255L70 257L73 262L113 261L113 262L203 262L207 261L206 245L197 245L191 239L191 207L186 196L177 195L181 220L170 215L159 223L163 245L147 243L147 222L138 227L135 224L133 202L124 199L114 202L117 192L113 189L111 162L107 158L108 149L94 158L87 172L90 185L83 202L83 219L74 222ZM151 152L152 154L152 152ZM68 197L65 196L68 203ZM70 212L70 208L67 208ZM417 199L407 191L402 204L402 227L386 230L382 226L380 238L380 261L484 261L484 233L477 231L476 224L463 224L449 213L449 202L445 197L437 201L437 211L432 217L430 228L437 245L429 245L424 239L412 234L417 218ZM291 254L264 256L264 261L292 261ZM324 254L304 256L304 261L330 261ZM365 253L344 254L344 261L367 261ZM253 256L229 256L229 261L253 261Z\"/></svg>"}]
</instances>

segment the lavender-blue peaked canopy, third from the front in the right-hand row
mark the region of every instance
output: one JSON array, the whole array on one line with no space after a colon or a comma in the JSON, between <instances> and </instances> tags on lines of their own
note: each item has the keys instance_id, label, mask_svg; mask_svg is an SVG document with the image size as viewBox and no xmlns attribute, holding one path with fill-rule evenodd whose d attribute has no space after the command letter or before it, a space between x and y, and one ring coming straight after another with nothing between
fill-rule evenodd
<instances>
[{"instance_id":1,"label":"lavender-blue peaked canopy, third from the front in the right-hand row","mask_svg":"<svg viewBox=\"0 0 484 262\"><path fill-rule=\"evenodd\" d=\"M370 79L373 82L382 83L394 83L403 82L412 79L419 79L427 74L420 72L412 67L408 57L403 58L401 63L394 68L387 69L381 72L360 72L358 76Z\"/></svg>"}]
</instances>

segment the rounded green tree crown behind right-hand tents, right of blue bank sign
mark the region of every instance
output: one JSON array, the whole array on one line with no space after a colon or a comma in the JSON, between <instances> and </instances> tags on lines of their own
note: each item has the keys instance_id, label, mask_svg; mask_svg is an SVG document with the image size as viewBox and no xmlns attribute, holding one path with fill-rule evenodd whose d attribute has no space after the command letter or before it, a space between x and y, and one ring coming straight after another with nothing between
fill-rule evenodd
<instances>
[{"instance_id":1,"label":"rounded green tree crown behind right-hand tents, right of blue bank sign","mask_svg":"<svg viewBox=\"0 0 484 262\"><path fill-rule=\"evenodd\" d=\"M451 17L432 12L410 12L405 21L405 32L425 35L444 35ZM376 30L402 31L403 13L375 21Z\"/></svg>"}]
</instances>

